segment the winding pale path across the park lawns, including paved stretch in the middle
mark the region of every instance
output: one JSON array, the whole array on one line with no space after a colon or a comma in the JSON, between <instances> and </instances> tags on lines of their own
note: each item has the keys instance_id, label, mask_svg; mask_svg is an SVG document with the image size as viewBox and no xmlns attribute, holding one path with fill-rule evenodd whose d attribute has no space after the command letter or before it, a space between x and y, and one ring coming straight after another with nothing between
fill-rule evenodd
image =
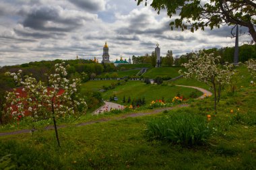
<instances>
[{"instance_id":1,"label":"winding pale path across the park lawns, including paved stretch in the middle","mask_svg":"<svg viewBox=\"0 0 256 170\"><path fill-rule=\"evenodd\" d=\"M201 91L204 95L201 95L200 97L198 97L198 99L203 99L205 98L207 95L212 95L212 93L210 91L207 91L205 89L199 88L199 87L193 87L193 86L187 86L187 85L177 85L177 86L181 86L181 87L189 87L189 88L193 88L193 89L197 89L199 91ZM110 108L121 108L123 107L123 105L119 105L117 103L112 103L112 102L108 102L108 101L104 101L104 105L100 108L105 109L106 110L106 106L107 109L110 110ZM94 121L89 121L89 122L82 122L79 124L76 124L76 126L86 126L88 124L95 124L95 123L99 123L99 122L108 122L111 120L121 120L121 119L125 119L125 118L135 118L135 117L139 117L139 116L146 116L146 115L150 115L150 114L158 114L160 112L163 112L164 110L174 110L176 108L184 108L184 107L188 107L189 104L181 104L181 105L176 105L175 107L172 108L158 108L156 110L152 110L151 112L145 112L145 113L135 113L135 114L126 114L124 116L120 116L120 117L116 117L116 118L102 118L99 120L94 120ZM100 111L100 108L98 109L98 111ZM98 112L99 113L99 112ZM97 114L97 110L96 112L94 112L94 114ZM67 127L66 125L60 125L58 126L58 128L65 128ZM53 130L53 126L47 126L45 128L45 130ZM31 130L25 129L25 130L17 130L17 131L13 131L13 132L1 132L0 136L7 136L7 135L14 135L14 134L24 134L24 133L30 133Z\"/></svg>"}]
</instances>

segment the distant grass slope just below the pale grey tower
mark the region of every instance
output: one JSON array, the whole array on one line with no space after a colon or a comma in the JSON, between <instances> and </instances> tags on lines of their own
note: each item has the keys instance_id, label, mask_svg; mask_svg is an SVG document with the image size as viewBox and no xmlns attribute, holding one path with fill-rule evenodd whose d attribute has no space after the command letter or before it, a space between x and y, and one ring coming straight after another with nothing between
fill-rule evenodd
<instances>
[{"instance_id":1,"label":"distant grass slope just below the pale grey tower","mask_svg":"<svg viewBox=\"0 0 256 170\"><path fill-rule=\"evenodd\" d=\"M143 77L155 78L157 76L170 76L172 78L179 76L179 70L184 69L184 67L160 67L152 68L143 74Z\"/></svg>"}]
</instances>

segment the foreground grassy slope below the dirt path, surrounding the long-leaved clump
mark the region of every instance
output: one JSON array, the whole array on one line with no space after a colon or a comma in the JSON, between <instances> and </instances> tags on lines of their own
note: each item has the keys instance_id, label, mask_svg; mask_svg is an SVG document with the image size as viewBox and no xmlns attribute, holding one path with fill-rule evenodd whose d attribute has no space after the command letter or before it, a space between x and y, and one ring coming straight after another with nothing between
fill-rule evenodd
<instances>
[{"instance_id":1,"label":"foreground grassy slope below the dirt path, surrounding the long-leaved clump","mask_svg":"<svg viewBox=\"0 0 256 170\"><path fill-rule=\"evenodd\" d=\"M221 101L211 120L216 132L205 146L146 140L146 122L160 114L60 129L61 148L53 130L1 137L0 156L13 154L13 163L24 169L255 169L256 126L229 124L230 109L239 107L243 114L256 109L255 94L256 89L246 89ZM212 102L199 101L186 110L209 114Z\"/></svg>"}]
</instances>

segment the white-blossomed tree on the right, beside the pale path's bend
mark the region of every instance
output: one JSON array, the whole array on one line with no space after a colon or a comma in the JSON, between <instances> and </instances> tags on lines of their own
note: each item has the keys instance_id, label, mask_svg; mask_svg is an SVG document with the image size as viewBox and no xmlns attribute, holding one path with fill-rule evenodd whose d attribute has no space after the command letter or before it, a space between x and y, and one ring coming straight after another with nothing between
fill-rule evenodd
<instances>
[{"instance_id":1,"label":"white-blossomed tree on the right, beside the pale path's bend","mask_svg":"<svg viewBox=\"0 0 256 170\"><path fill-rule=\"evenodd\" d=\"M185 78L195 78L214 89L214 110L216 113L217 89L218 98L220 98L221 88L230 82L232 75L232 67L230 65L222 66L219 62L220 56L215 57L214 54L199 52L199 54L193 56L192 60L183 64L187 72L179 71Z\"/></svg>"}]
</instances>

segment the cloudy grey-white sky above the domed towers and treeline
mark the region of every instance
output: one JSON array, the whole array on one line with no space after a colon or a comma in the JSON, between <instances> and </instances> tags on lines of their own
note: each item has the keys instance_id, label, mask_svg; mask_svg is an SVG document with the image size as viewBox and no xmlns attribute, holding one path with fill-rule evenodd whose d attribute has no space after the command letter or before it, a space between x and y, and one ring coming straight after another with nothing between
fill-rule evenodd
<instances>
[{"instance_id":1,"label":"cloudy grey-white sky above the domed towers and treeline","mask_svg":"<svg viewBox=\"0 0 256 170\"><path fill-rule=\"evenodd\" d=\"M205 32L171 31L170 18L134 0L1 0L0 66L35 60L102 59L106 41L110 60L151 53L161 55L234 46L230 28ZM247 34L240 44L247 43Z\"/></svg>"}]
</instances>

